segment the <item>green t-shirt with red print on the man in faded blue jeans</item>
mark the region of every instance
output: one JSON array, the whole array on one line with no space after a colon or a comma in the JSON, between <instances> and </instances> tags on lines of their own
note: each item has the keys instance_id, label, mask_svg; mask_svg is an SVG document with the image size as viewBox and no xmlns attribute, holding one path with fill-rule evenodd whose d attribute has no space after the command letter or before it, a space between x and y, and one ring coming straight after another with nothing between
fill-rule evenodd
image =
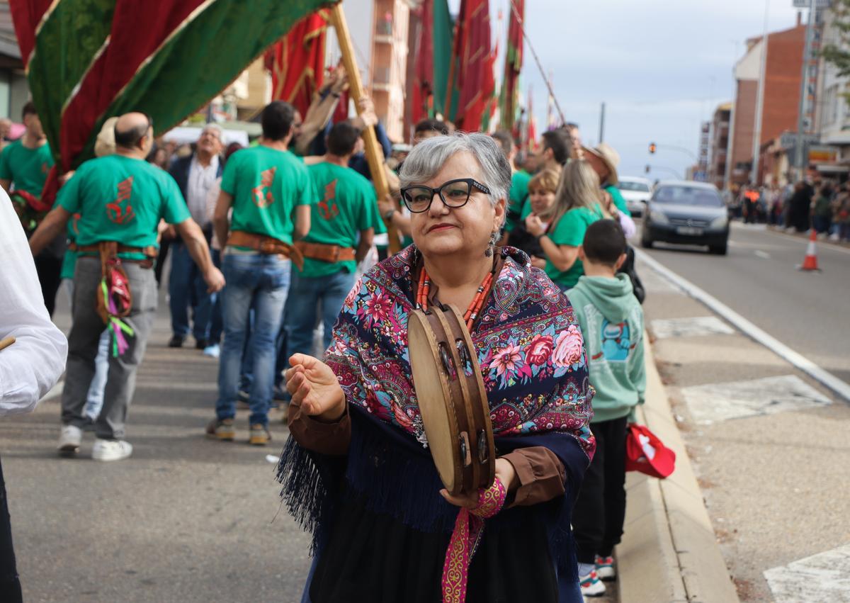
<instances>
[{"instance_id":1,"label":"green t-shirt with red print on the man in faded blue jeans","mask_svg":"<svg viewBox=\"0 0 850 603\"><path fill-rule=\"evenodd\" d=\"M236 151L227 160L221 190L233 195L230 230L271 236L292 245L293 212L316 202L307 166L292 151L265 145Z\"/></svg>"}]
</instances>

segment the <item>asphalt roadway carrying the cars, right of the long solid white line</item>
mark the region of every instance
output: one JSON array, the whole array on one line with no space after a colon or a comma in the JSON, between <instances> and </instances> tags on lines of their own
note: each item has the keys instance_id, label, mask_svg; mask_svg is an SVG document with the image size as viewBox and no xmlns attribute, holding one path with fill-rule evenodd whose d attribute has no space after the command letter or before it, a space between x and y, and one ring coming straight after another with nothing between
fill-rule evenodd
<instances>
[{"instance_id":1,"label":"asphalt roadway carrying the cars, right of the long solid white line","mask_svg":"<svg viewBox=\"0 0 850 603\"><path fill-rule=\"evenodd\" d=\"M736 223L725 257L662 243L649 254L850 383L850 248L819 244L823 272L811 273L796 270L806 245L796 236Z\"/></svg>"}]
</instances>

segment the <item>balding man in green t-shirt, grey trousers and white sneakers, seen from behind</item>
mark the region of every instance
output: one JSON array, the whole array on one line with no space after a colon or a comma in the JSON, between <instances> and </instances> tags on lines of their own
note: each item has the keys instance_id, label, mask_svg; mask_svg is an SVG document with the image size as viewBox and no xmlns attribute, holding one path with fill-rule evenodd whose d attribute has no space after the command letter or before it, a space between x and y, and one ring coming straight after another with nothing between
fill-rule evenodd
<instances>
[{"instance_id":1,"label":"balding man in green t-shirt, grey trousers and white sneakers, seen from behind","mask_svg":"<svg viewBox=\"0 0 850 603\"><path fill-rule=\"evenodd\" d=\"M112 356L106 378L104 405L94 422L97 441L92 458L114 461L127 458L133 447L123 441L127 407L133 399L136 369L156 316L156 279L151 257L156 258L157 229L160 221L177 227L200 266L211 292L224 286L224 277L212 265L207 240L190 218L177 183L166 172L144 161L153 146L153 124L143 113L127 113L115 126L116 154L83 163L59 190L56 206L30 238L32 252L38 253L58 233L65 232L68 220L77 219L79 256L74 272L74 303L71 333L68 336L68 363L62 390L62 434L59 452L79 451L82 428L88 423L83 409L94 377L104 319L98 312L101 293L100 243L116 242L117 258L127 274L132 304L121 320L132 330L127 347ZM116 327L113 321L110 327ZM116 330L114 347L121 338Z\"/></svg>"}]
</instances>

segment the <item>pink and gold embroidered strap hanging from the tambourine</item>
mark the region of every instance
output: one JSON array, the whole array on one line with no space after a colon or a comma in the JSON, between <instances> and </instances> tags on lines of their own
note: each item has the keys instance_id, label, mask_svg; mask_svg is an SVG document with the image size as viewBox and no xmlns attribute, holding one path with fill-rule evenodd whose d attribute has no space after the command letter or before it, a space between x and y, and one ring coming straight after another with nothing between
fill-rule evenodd
<instances>
[{"instance_id":1,"label":"pink and gold embroidered strap hanging from the tambourine","mask_svg":"<svg viewBox=\"0 0 850 603\"><path fill-rule=\"evenodd\" d=\"M479 504L475 509L462 508L457 513L449 549L445 551L443 603L463 603L467 599L469 563L478 548L484 520L501 510L506 496L505 486L494 480L492 486L479 491Z\"/></svg>"}]
</instances>

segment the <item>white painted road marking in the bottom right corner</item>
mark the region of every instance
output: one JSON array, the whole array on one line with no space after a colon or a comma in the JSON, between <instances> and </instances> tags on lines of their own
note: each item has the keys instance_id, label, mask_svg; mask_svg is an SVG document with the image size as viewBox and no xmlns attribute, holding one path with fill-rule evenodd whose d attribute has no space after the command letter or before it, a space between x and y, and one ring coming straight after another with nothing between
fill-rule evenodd
<instances>
[{"instance_id":1,"label":"white painted road marking in the bottom right corner","mask_svg":"<svg viewBox=\"0 0 850 603\"><path fill-rule=\"evenodd\" d=\"M850 601L850 544L764 572L776 603Z\"/></svg>"}]
</instances>

